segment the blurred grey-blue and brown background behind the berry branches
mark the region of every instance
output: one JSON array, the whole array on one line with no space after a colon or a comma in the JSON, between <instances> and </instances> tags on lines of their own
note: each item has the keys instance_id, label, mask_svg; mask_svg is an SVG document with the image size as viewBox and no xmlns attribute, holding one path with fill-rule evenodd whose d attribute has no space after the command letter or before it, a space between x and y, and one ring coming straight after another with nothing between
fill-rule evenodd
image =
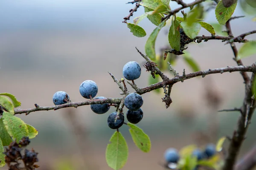
<instances>
[{"instance_id":1,"label":"blurred grey-blue and brown background behind the berry branches","mask_svg":"<svg viewBox=\"0 0 256 170\"><path fill-rule=\"evenodd\" d=\"M144 53L145 42L156 26L144 19L139 25L147 32L146 37L134 37L122 23L122 18L135 5L125 4L127 2L1 0L0 92L14 94L23 109L34 108L35 103L51 106L56 91L67 92L73 102L83 101L79 86L90 79L99 87L97 96L119 97L121 91L108 71L121 79L123 65L128 61L137 61L142 67L142 75L135 81L138 87L148 86L150 74L143 68L145 61L135 47ZM231 21L234 36L255 30L253 5L249 1L239 1L233 16L246 17ZM171 2L170 6L174 9L178 5ZM143 7L139 8L134 17L143 12ZM217 23L214 10L209 11L205 22ZM168 45L168 30L169 25L157 37L157 54L160 48ZM202 34L209 35L203 28ZM246 38L255 39L256 35ZM224 42L211 40L191 43L188 47L187 51L201 70L236 66L230 45ZM244 65L251 65L255 57L243 59ZM186 73L192 72L180 56L174 67L180 74L183 68ZM166 74L172 77L170 72ZM141 152L134 145L127 126L120 128L129 147L128 162L123 170L161 170L164 169L160 165L164 162L163 153L169 147L180 149L188 144L204 147L209 142L216 143L222 136L232 135L239 113L217 111L240 107L244 84L238 72L179 82L172 88L173 102L168 109L161 99L163 91L160 92L143 95L144 117L138 126L151 139L149 153ZM113 111L115 108L97 115L90 106L82 106L17 116L39 131L38 136L31 139L29 149L33 147L39 153L40 170L111 170L105 161L105 148L114 133L107 124L108 115ZM255 128L254 115L240 156L255 144ZM227 146L227 142L224 145Z\"/></svg>"}]
</instances>

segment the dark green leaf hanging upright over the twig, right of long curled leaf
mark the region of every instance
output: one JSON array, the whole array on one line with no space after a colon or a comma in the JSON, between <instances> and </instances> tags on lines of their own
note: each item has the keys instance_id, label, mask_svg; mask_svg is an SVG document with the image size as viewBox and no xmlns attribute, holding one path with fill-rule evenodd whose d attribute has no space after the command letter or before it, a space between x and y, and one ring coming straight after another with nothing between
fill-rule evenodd
<instances>
[{"instance_id":1,"label":"dark green leaf hanging upright over the twig, right of long curled leaf","mask_svg":"<svg viewBox=\"0 0 256 170\"><path fill-rule=\"evenodd\" d=\"M180 51L180 22L177 20L172 21L168 34L169 44L176 51Z\"/></svg>"}]
</instances>

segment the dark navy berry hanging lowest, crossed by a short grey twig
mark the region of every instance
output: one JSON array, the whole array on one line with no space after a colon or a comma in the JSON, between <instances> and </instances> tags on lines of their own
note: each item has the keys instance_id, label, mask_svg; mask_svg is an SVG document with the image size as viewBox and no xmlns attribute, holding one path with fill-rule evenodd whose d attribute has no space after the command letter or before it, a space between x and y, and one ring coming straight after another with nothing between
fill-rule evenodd
<instances>
[{"instance_id":1,"label":"dark navy berry hanging lowest, crossed by a short grey twig","mask_svg":"<svg viewBox=\"0 0 256 170\"><path fill-rule=\"evenodd\" d=\"M113 112L108 116L108 126L111 129L118 129L124 124L125 117L122 113L119 114L119 118L116 119L117 112Z\"/></svg>"}]
</instances>

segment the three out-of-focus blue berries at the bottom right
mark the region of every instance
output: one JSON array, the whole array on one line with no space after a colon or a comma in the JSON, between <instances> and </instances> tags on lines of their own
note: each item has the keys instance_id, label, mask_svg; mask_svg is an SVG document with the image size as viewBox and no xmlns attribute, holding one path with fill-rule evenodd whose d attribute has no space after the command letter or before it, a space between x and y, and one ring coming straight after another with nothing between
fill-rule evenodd
<instances>
[{"instance_id":1,"label":"three out-of-focus blue berries at the bottom right","mask_svg":"<svg viewBox=\"0 0 256 170\"><path fill-rule=\"evenodd\" d=\"M200 150L199 148L197 148L192 152L192 156L195 156L198 161L202 159L210 159L215 154L216 154L215 144L207 144L204 150ZM180 160L180 155L175 148L169 148L164 153L164 158L166 160L166 166L172 169L172 167L170 166L172 166L173 164L177 165L178 161ZM197 167L195 168L195 170L196 169Z\"/></svg>"}]
</instances>

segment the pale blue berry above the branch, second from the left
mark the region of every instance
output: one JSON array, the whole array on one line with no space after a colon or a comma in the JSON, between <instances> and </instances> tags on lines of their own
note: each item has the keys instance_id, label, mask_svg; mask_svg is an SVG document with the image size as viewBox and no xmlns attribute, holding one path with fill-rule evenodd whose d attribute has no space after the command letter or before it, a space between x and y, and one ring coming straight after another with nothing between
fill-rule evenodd
<instances>
[{"instance_id":1,"label":"pale blue berry above the branch, second from the left","mask_svg":"<svg viewBox=\"0 0 256 170\"><path fill-rule=\"evenodd\" d=\"M93 98L97 95L98 86L92 80L86 80L81 83L79 91L84 98L90 99L90 96Z\"/></svg>"}]
</instances>

